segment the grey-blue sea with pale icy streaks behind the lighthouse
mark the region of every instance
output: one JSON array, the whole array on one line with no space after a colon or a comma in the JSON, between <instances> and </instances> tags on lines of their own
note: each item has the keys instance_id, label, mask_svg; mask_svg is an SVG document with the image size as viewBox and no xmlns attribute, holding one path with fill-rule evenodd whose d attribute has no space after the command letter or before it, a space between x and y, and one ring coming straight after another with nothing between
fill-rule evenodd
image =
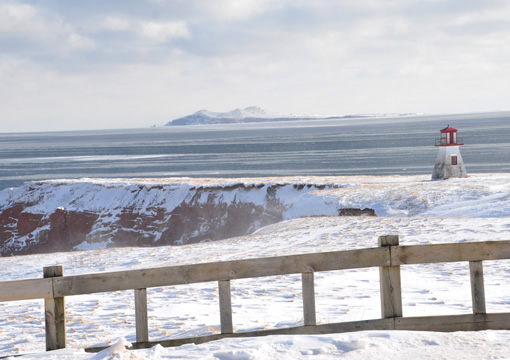
<instances>
[{"instance_id":1,"label":"grey-blue sea with pale icy streaks behind the lighthouse","mask_svg":"<svg viewBox=\"0 0 510 360\"><path fill-rule=\"evenodd\" d=\"M0 133L0 190L83 177L432 174L447 125L468 173L510 172L510 112L500 112Z\"/></svg>"}]
</instances>

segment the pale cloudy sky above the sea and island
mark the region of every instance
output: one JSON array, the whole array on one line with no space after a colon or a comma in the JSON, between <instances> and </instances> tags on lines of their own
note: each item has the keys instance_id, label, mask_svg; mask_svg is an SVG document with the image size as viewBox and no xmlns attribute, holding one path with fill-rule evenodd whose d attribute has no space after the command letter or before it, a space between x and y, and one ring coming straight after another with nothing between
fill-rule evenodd
<instances>
[{"instance_id":1,"label":"pale cloudy sky above the sea and island","mask_svg":"<svg viewBox=\"0 0 510 360\"><path fill-rule=\"evenodd\" d=\"M510 110L510 2L0 0L0 132Z\"/></svg>"}]
</instances>

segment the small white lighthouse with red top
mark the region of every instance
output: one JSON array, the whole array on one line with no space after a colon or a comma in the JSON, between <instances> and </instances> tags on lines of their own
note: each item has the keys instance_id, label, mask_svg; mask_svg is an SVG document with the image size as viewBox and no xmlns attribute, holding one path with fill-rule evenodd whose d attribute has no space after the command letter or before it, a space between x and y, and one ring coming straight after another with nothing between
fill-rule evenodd
<instances>
[{"instance_id":1,"label":"small white lighthouse with red top","mask_svg":"<svg viewBox=\"0 0 510 360\"><path fill-rule=\"evenodd\" d=\"M448 179L451 177L466 177L467 172L460 156L462 138L457 137L457 129L448 125L440 130L441 138L436 139L436 146L439 147L432 180Z\"/></svg>"}]
</instances>

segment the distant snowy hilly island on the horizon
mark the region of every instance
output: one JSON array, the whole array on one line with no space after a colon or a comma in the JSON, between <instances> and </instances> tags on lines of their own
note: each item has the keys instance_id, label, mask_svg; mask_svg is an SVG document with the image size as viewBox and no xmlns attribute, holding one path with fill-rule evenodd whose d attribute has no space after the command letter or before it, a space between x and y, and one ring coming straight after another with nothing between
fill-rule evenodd
<instances>
[{"instance_id":1,"label":"distant snowy hilly island on the horizon","mask_svg":"<svg viewBox=\"0 0 510 360\"><path fill-rule=\"evenodd\" d=\"M288 115L270 112L257 106L244 109L234 109L227 112L213 112L200 110L166 123L165 126L174 125L215 125L215 124L240 124L269 121L292 121L292 120L326 120L326 119L351 119L388 116L412 116L417 114L359 114L339 116L315 116L315 115Z\"/></svg>"}]
</instances>

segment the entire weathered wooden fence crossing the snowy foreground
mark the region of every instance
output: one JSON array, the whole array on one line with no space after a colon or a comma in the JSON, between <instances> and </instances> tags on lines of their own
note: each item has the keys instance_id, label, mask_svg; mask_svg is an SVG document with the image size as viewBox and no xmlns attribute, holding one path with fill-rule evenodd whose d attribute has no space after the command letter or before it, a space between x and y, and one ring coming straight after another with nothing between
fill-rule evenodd
<instances>
[{"instance_id":1,"label":"entire weathered wooden fence crossing the snowy foreground","mask_svg":"<svg viewBox=\"0 0 510 360\"><path fill-rule=\"evenodd\" d=\"M156 343L177 346L225 337L272 334L324 334L360 330L470 331L510 330L510 313L488 314L485 309L484 260L510 259L510 241L485 241L438 245L399 246L398 236L379 237L379 247L270 258L170 266L120 272L64 276L61 266L44 268L43 279L0 282L0 301L44 299L46 349L66 346L65 297L119 290L134 290L136 343L145 348ZM400 265L468 261L472 314L404 317ZM381 319L317 324L314 272L378 267L380 269ZM234 332L230 280L302 274L303 326ZM221 333L185 339L149 341L147 288L201 282L218 282ZM98 351L102 348L88 349Z\"/></svg>"}]
</instances>

